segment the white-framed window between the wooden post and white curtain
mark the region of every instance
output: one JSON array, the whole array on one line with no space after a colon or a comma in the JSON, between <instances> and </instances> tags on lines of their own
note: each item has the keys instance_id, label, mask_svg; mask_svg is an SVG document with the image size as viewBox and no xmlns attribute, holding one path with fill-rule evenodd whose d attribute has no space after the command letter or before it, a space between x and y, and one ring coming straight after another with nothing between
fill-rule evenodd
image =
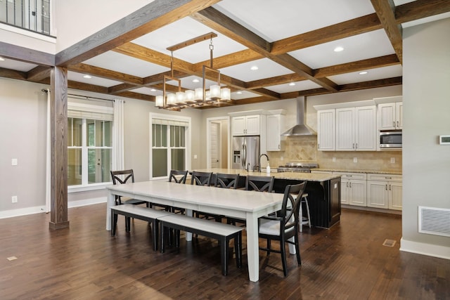
<instances>
[{"instance_id":1,"label":"white-framed window between the wooden post and white curtain","mask_svg":"<svg viewBox=\"0 0 450 300\"><path fill-rule=\"evenodd\" d=\"M68 185L110 182L112 123L68 117Z\"/></svg>"}]
</instances>

